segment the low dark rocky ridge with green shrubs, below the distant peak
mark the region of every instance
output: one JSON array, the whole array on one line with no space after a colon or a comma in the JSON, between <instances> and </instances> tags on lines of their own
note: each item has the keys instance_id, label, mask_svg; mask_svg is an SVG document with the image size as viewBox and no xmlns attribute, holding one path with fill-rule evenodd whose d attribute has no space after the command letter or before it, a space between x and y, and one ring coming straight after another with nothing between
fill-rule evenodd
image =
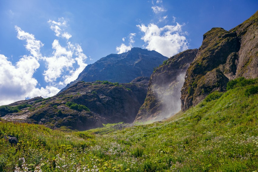
<instances>
[{"instance_id":1,"label":"low dark rocky ridge with green shrubs, below the distant peak","mask_svg":"<svg viewBox=\"0 0 258 172\"><path fill-rule=\"evenodd\" d=\"M88 130L102 123L132 123L147 94L148 78L134 83L77 82L56 96L36 97L0 106L4 120L49 128Z\"/></svg>"}]
</instances>

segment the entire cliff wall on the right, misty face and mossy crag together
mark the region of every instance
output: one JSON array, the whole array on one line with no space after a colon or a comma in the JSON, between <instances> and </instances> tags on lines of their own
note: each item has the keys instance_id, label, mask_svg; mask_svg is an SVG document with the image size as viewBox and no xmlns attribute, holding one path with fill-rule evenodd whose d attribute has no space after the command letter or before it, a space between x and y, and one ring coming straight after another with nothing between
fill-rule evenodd
<instances>
[{"instance_id":1,"label":"entire cliff wall on the right, misty face and mossy crag together","mask_svg":"<svg viewBox=\"0 0 258 172\"><path fill-rule=\"evenodd\" d=\"M155 69L135 122L162 120L214 91L226 91L229 80L258 77L257 56L258 12L229 31L212 28L199 49L181 52Z\"/></svg>"}]
</instances>

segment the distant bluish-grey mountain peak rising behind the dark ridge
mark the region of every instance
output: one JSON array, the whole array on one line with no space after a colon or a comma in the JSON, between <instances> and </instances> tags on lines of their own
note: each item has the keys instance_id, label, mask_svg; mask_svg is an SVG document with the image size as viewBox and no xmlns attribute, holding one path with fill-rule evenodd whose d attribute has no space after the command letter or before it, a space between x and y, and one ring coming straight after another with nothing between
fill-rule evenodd
<instances>
[{"instance_id":1,"label":"distant bluish-grey mountain peak rising behind the dark ridge","mask_svg":"<svg viewBox=\"0 0 258 172\"><path fill-rule=\"evenodd\" d=\"M167 59L167 57L154 50L148 51L141 48L132 48L130 51L121 54L110 54L86 66L78 78L60 92L78 81L107 80L113 83L129 83L139 76L150 77L153 68Z\"/></svg>"}]
</instances>

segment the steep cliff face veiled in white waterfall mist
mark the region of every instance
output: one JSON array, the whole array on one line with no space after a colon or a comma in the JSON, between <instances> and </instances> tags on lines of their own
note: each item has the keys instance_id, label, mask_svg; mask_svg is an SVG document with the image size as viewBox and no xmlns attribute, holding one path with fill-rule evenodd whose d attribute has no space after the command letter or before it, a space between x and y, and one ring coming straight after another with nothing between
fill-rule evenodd
<instances>
[{"instance_id":1,"label":"steep cliff face veiled in white waterfall mist","mask_svg":"<svg viewBox=\"0 0 258 172\"><path fill-rule=\"evenodd\" d=\"M181 110L180 90L185 72L198 49L181 52L155 69L151 75L148 93L135 121L162 120Z\"/></svg>"}]
</instances>

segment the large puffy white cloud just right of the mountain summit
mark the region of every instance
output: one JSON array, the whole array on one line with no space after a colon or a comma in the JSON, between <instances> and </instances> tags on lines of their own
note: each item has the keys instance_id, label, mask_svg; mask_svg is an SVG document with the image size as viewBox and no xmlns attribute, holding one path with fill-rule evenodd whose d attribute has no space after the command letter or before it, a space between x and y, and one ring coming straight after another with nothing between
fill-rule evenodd
<instances>
[{"instance_id":1,"label":"large puffy white cloud just right of the mountain summit","mask_svg":"<svg viewBox=\"0 0 258 172\"><path fill-rule=\"evenodd\" d=\"M137 25L137 27L144 32L141 38L145 43L145 48L148 50L155 50L164 56L170 57L180 51L188 49L188 42L182 33L182 25L166 25L159 28L155 24Z\"/></svg>"}]
</instances>

